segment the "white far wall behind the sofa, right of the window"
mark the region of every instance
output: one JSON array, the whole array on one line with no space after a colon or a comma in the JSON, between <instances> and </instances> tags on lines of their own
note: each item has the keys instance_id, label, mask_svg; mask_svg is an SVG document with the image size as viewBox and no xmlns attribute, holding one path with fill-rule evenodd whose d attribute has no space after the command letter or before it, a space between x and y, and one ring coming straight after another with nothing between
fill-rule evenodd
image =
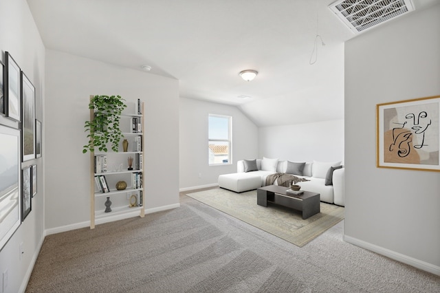
<instances>
[{"instance_id":1,"label":"white far wall behind the sofa, right of the window","mask_svg":"<svg viewBox=\"0 0 440 293\"><path fill-rule=\"evenodd\" d=\"M293 162L344 161L344 120L261 127L259 157Z\"/></svg>"}]
</instances>

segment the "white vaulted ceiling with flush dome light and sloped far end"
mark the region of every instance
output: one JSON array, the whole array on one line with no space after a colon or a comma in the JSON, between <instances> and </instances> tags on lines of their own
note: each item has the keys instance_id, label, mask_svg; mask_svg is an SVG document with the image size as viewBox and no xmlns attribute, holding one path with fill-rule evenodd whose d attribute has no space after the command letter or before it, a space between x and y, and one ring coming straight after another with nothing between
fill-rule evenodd
<instances>
[{"instance_id":1,"label":"white vaulted ceiling with flush dome light and sloped far end","mask_svg":"<svg viewBox=\"0 0 440 293\"><path fill-rule=\"evenodd\" d=\"M344 41L355 34L329 10L333 1L28 3L47 49L149 65L145 74L177 78L181 97L236 105L264 127L344 118ZM419 10L439 0L412 3ZM244 69L259 74L246 82Z\"/></svg>"}]
</instances>

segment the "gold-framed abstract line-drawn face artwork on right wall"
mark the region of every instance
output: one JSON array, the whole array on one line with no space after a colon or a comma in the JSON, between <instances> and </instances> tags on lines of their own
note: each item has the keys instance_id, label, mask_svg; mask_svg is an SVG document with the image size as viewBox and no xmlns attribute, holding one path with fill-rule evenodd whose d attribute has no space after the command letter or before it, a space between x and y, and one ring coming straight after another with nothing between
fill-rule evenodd
<instances>
[{"instance_id":1,"label":"gold-framed abstract line-drawn face artwork on right wall","mask_svg":"<svg viewBox=\"0 0 440 293\"><path fill-rule=\"evenodd\" d=\"M440 96L376 106L377 166L440 171Z\"/></svg>"}]
</instances>

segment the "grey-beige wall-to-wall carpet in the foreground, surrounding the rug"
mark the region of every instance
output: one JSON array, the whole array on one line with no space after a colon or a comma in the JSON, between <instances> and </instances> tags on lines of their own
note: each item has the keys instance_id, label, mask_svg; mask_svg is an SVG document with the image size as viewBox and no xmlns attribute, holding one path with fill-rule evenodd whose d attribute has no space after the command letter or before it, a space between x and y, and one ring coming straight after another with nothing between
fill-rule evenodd
<instances>
[{"instance_id":1,"label":"grey-beige wall-to-wall carpet in the foreground, surrounding the rug","mask_svg":"<svg viewBox=\"0 0 440 293\"><path fill-rule=\"evenodd\" d=\"M181 195L181 207L46 237L26 292L440 292L440 277L342 241L299 248Z\"/></svg>"}]
</instances>

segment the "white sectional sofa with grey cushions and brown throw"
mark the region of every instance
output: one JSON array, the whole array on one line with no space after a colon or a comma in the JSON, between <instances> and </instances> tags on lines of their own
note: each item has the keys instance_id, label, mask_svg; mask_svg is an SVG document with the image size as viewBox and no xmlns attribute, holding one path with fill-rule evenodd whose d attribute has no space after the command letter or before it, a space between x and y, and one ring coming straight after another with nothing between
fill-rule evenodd
<instances>
[{"instance_id":1,"label":"white sectional sofa with grey cushions and brown throw","mask_svg":"<svg viewBox=\"0 0 440 293\"><path fill-rule=\"evenodd\" d=\"M256 168L252 168L252 161L255 161ZM302 172L298 166L303 166ZM219 175L219 187L236 193L251 191L265 186L267 175L274 173L287 173L305 178L309 181L297 183L302 190L320 193L321 202L345 205L344 167L341 166L341 162L298 163L267 158L240 160L237 162L237 173Z\"/></svg>"}]
</instances>

